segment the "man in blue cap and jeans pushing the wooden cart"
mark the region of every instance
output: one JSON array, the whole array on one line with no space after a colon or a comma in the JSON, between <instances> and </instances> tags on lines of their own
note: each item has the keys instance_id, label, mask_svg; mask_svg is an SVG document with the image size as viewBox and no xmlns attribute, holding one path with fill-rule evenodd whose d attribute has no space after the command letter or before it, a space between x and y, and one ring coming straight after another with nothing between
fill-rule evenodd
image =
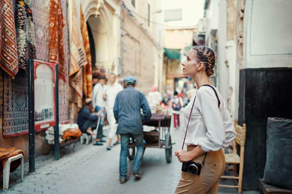
<instances>
[{"instance_id":1,"label":"man in blue cap and jeans pushing the wooden cart","mask_svg":"<svg viewBox=\"0 0 292 194\"><path fill-rule=\"evenodd\" d=\"M135 89L136 79L129 76L125 80L126 88L117 94L114 102L114 118L118 121L117 134L121 135L120 152L120 183L127 181L127 156L129 151L129 138L135 139L137 153L134 159L133 176L140 179L139 169L144 152L143 122L150 121L151 110L145 95ZM143 110L141 117L140 109Z\"/></svg>"}]
</instances>

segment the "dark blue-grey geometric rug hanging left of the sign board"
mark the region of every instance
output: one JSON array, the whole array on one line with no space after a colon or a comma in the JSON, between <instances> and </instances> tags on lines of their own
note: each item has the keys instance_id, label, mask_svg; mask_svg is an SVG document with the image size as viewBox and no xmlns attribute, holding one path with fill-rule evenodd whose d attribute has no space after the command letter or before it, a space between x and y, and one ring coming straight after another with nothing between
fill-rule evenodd
<instances>
[{"instance_id":1,"label":"dark blue-grey geometric rug hanging left of the sign board","mask_svg":"<svg viewBox=\"0 0 292 194\"><path fill-rule=\"evenodd\" d=\"M3 136L28 134L27 71L20 69L14 79L4 73Z\"/></svg>"}]
</instances>

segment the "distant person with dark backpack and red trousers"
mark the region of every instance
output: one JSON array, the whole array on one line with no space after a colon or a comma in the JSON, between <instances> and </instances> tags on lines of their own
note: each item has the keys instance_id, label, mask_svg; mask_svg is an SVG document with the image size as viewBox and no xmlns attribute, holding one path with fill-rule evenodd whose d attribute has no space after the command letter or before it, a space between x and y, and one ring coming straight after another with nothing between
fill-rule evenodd
<instances>
[{"instance_id":1,"label":"distant person with dark backpack and red trousers","mask_svg":"<svg viewBox=\"0 0 292 194\"><path fill-rule=\"evenodd\" d=\"M183 106L182 97L178 96L178 92L173 92L173 98L170 102L170 107L172 108L173 114L173 127L174 129L178 129L180 127L180 109Z\"/></svg>"}]
</instances>

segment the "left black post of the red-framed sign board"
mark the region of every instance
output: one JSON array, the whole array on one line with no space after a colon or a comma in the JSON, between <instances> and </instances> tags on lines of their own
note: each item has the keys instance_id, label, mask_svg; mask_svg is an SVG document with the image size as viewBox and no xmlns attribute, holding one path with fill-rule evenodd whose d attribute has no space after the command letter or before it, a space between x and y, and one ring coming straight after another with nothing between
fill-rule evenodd
<instances>
[{"instance_id":1,"label":"left black post of the red-framed sign board","mask_svg":"<svg viewBox=\"0 0 292 194\"><path fill-rule=\"evenodd\" d=\"M34 172L34 61L28 62L28 150L29 172Z\"/></svg>"}]
</instances>

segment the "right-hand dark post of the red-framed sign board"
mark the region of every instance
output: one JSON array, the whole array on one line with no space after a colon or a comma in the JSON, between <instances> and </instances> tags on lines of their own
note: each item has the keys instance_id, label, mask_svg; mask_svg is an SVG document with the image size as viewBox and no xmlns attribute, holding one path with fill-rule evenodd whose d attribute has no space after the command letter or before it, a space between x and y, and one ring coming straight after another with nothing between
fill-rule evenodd
<instances>
[{"instance_id":1,"label":"right-hand dark post of the red-framed sign board","mask_svg":"<svg viewBox=\"0 0 292 194\"><path fill-rule=\"evenodd\" d=\"M56 126L54 130L54 153L55 160L60 159L60 147L59 147L59 66L56 65Z\"/></svg>"}]
</instances>

